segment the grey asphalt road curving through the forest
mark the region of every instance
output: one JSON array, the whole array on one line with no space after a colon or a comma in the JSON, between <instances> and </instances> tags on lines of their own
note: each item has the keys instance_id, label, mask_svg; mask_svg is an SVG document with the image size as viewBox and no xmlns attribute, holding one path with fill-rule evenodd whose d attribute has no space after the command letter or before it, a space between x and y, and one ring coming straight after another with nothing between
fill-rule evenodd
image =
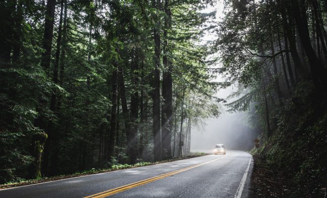
<instances>
[{"instance_id":1,"label":"grey asphalt road curving through the forest","mask_svg":"<svg viewBox=\"0 0 327 198\"><path fill-rule=\"evenodd\" d=\"M227 150L226 155L0 190L0 198L100 198L110 194L109 198L245 198L251 172L249 153Z\"/></svg>"}]
</instances>

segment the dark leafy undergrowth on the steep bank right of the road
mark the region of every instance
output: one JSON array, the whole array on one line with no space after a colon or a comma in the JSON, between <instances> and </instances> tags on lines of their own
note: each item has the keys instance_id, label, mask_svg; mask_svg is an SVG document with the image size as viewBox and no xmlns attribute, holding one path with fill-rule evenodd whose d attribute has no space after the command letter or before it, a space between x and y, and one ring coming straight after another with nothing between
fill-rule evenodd
<instances>
[{"instance_id":1,"label":"dark leafy undergrowth on the steep bank right of the road","mask_svg":"<svg viewBox=\"0 0 327 198\"><path fill-rule=\"evenodd\" d=\"M260 189L253 198L260 197L258 195L264 191L276 192L278 189L285 189L286 194L283 192L278 196L277 192L268 197L326 198L326 107L300 97L297 102L278 115L278 127L268 141L262 138L259 153L255 148L251 150L257 157L254 173L265 175L268 170L274 173L271 178L263 178L261 184L253 184L253 189ZM260 171L256 170L256 165ZM262 173L265 170L267 173ZM255 174L253 180L258 177Z\"/></svg>"}]
</instances>

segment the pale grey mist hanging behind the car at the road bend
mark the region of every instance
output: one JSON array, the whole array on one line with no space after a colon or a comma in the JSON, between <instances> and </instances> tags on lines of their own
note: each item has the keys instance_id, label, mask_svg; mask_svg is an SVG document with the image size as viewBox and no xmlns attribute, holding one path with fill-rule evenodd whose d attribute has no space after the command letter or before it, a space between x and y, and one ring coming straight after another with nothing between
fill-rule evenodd
<instances>
[{"instance_id":1,"label":"pale grey mist hanging behind the car at the road bend","mask_svg":"<svg viewBox=\"0 0 327 198\"><path fill-rule=\"evenodd\" d=\"M217 81L226 80L217 76ZM216 96L226 99L228 103L235 100L235 98L227 98L236 91L235 85L232 85L219 90ZM248 123L249 113L247 111L228 112L228 108L223 103L219 106L221 114L218 118L203 119L196 126L192 126L191 151L212 152L217 144L224 144L226 149L251 149L257 133Z\"/></svg>"}]
</instances>

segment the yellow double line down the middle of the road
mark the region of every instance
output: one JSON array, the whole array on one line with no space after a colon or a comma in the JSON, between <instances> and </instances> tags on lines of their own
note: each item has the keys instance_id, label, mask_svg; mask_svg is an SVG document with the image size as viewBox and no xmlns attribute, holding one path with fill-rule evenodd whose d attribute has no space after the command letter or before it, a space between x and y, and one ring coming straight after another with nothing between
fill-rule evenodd
<instances>
[{"instance_id":1,"label":"yellow double line down the middle of the road","mask_svg":"<svg viewBox=\"0 0 327 198\"><path fill-rule=\"evenodd\" d=\"M218 159L222 159L224 157L226 157L226 155L223 156L223 157L220 157ZM156 180L163 179L165 177L175 175L177 173L181 173L181 172L190 170L192 168L196 168L196 167L199 167L199 166L202 166L202 165L205 165L205 164L209 164L211 162L217 161L218 159L213 159L213 160L206 161L206 162L203 162L203 163L199 163L199 164L196 164L196 165L193 165L193 166L189 166L189 167L182 168L182 169L179 169L179 170L175 170L175 171L172 171L172 172L169 172L169 173L165 173L163 175L159 175L159 176L156 176L156 177L151 177L149 179L141 180L141 181L138 181L138 182L135 182L135 183L132 183L132 184L127 184L125 186L121 186L121 187L114 188L114 189L111 189L111 190L108 190L108 191L97 193L97 194L94 194L94 195L91 195L91 196L88 196L88 197L85 197L85 198L105 198L105 197L108 197L110 195L114 195L114 194L126 191L128 189L132 189L132 188L135 188L135 187L138 187L138 186L141 186L141 185L144 185L144 184L156 181Z\"/></svg>"}]
</instances>

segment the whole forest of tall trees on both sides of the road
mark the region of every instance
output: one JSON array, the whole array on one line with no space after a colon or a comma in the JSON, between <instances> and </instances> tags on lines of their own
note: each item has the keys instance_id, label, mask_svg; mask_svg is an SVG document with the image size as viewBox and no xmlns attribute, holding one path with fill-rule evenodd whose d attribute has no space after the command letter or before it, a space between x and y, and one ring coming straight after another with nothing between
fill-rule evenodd
<instances>
[{"instance_id":1,"label":"whole forest of tall trees on both sides of the road","mask_svg":"<svg viewBox=\"0 0 327 198\"><path fill-rule=\"evenodd\" d=\"M1 0L0 184L189 155L225 105L294 197L320 195L327 1L217 2Z\"/></svg>"}]
</instances>

